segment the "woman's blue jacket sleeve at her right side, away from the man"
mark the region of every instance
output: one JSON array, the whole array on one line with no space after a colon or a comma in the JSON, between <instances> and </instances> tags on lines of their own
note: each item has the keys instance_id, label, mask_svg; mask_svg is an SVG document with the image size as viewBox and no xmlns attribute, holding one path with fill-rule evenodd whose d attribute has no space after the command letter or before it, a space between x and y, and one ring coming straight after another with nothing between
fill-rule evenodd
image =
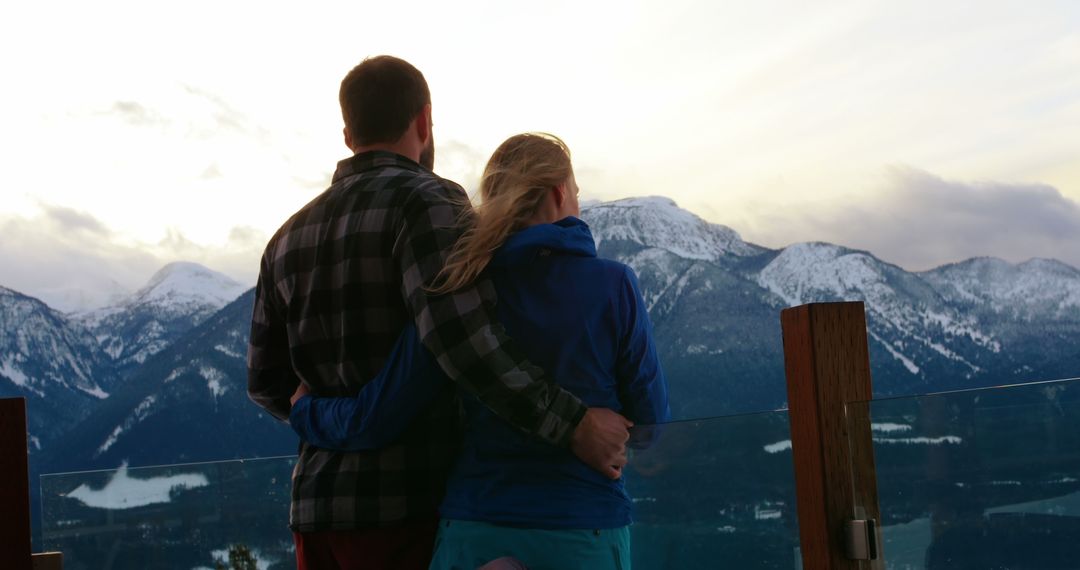
<instances>
[{"instance_id":1,"label":"woman's blue jacket sleeve at her right side, away from the man","mask_svg":"<svg viewBox=\"0 0 1080 570\"><path fill-rule=\"evenodd\" d=\"M629 267L623 272L619 307L622 320L617 365L619 401L624 406L623 415L636 424L631 431L630 446L643 448L659 435L654 425L671 420L671 408L667 379L652 341L652 323L637 275Z\"/></svg>"}]
</instances>

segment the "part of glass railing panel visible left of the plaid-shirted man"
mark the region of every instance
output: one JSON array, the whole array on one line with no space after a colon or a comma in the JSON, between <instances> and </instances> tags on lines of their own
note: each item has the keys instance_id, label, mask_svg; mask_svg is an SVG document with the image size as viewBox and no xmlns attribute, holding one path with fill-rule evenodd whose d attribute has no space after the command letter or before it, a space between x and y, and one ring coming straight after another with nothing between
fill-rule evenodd
<instances>
[{"instance_id":1,"label":"part of glass railing panel visible left of the plaid-shirted man","mask_svg":"<svg viewBox=\"0 0 1080 570\"><path fill-rule=\"evenodd\" d=\"M42 542L65 570L295 568L295 458L41 476ZM246 567L245 567L246 568Z\"/></svg>"}]
</instances>

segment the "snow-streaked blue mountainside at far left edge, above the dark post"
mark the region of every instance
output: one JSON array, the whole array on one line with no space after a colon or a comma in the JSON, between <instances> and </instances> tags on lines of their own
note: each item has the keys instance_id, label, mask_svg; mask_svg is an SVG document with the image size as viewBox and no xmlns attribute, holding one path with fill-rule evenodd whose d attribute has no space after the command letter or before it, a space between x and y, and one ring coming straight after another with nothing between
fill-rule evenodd
<instances>
[{"instance_id":1,"label":"snow-streaked blue mountainside at far left edge, above the dark post","mask_svg":"<svg viewBox=\"0 0 1080 570\"><path fill-rule=\"evenodd\" d=\"M31 450L49 447L117 385L110 358L85 329L0 287L0 397L27 398Z\"/></svg>"}]
</instances>

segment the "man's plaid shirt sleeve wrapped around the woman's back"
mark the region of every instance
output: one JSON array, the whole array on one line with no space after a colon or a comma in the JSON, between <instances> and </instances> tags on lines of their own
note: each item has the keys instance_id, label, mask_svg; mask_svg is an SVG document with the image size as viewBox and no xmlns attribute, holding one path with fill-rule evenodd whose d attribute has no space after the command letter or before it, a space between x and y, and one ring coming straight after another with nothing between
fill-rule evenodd
<instances>
[{"instance_id":1,"label":"man's plaid shirt sleeve wrapped around the woman's back","mask_svg":"<svg viewBox=\"0 0 1080 570\"><path fill-rule=\"evenodd\" d=\"M437 186L437 188L431 188ZM433 295L435 283L471 215L464 191L434 180L406 200L394 243L402 296L424 347L446 375L518 430L566 446L586 407L544 377L498 323L495 293L486 279L454 293Z\"/></svg>"}]
</instances>

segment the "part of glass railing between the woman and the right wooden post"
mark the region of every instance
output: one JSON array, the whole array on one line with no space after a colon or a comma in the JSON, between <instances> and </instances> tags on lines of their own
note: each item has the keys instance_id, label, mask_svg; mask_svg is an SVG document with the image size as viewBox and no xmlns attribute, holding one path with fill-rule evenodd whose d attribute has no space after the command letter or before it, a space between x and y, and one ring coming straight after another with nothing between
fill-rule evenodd
<instances>
[{"instance_id":1,"label":"part of glass railing between the woman and the right wooden post","mask_svg":"<svg viewBox=\"0 0 1080 570\"><path fill-rule=\"evenodd\" d=\"M796 567L786 410L663 425L625 477L634 568Z\"/></svg>"}]
</instances>

